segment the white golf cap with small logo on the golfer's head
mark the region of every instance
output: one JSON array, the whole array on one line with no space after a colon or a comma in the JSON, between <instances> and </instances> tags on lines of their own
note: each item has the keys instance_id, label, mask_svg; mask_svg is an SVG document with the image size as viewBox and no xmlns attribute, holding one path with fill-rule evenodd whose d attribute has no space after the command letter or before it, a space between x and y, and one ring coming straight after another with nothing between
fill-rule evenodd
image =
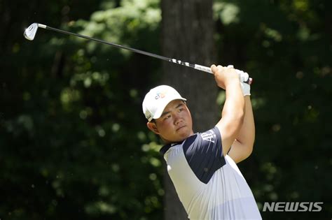
<instances>
[{"instance_id":1,"label":"white golf cap with small logo on the golfer's head","mask_svg":"<svg viewBox=\"0 0 332 220\"><path fill-rule=\"evenodd\" d=\"M151 89L146 94L142 104L143 113L148 122L151 122L152 119L158 119L166 105L176 99L186 101L186 98L182 98L173 87L160 85Z\"/></svg>"}]
</instances>

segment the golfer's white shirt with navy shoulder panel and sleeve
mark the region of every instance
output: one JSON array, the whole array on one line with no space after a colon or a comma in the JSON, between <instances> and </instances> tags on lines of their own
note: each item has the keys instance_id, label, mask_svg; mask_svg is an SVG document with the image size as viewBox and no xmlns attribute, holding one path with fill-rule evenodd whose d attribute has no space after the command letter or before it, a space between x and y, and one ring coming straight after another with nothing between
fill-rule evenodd
<instances>
[{"instance_id":1,"label":"golfer's white shirt with navy shoulder panel and sleeve","mask_svg":"<svg viewBox=\"0 0 332 220\"><path fill-rule=\"evenodd\" d=\"M214 127L160 149L189 219L261 219L256 201Z\"/></svg>"}]
</instances>

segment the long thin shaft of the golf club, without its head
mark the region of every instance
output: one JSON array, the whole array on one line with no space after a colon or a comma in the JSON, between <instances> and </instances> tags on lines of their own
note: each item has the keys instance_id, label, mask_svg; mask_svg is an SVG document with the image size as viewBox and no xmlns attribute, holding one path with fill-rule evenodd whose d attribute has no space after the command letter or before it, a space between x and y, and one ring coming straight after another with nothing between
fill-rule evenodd
<instances>
[{"instance_id":1,"label":"long thin shaft of the golf club, without its head","mask_svg":"<svg viewBox=\"0 0 332 220\"><path fill-rule=\"evenodd\" d=\"M184 62L184 61L181 61L181 60L178 60L178 59L163 57L163 56L160 56L158 54L153 54L151 52L145 52L143 50L137 50L137 49L134 49L134 48L131 48L131 47L125 47L123 45L118 45L116 43L110 43L110 42L107 42L107 41L102 41L102 40L99 40L97 38L92 38L90 36L84 36L82 34L75 34L75 33L69 32L69 31L63 31L63 30L60 30L60 29L56 29L54 27L49 27L45 24L38 24L38 27L43 28L43 29L48 29L48 30L51 30L51 31L57 31L57 32L60 32L62 34L69 34L69 35L73 35L73 36L78 36L79 38L85 38L85 39L88 39L88 40L97 41L99 43L104 43L106 45L111 45L113 47L119 47L121 49L130 50L132 52L136 52L136 53L139 53L139 54L144 54L146 56L155 57L157 59L162 59L162 60L165 60L165 61L170 61L174 64L179 64L179 65L182 65L182 66L189 66L191 68L195 68L196 70L204 71L204 72L213 74L212 71L211 71L211 68L209 68L207 66L201 66L201 65L198 65L198 64L190 64L188 62ZM246 83L248 83L250 85L251 82L252 82L252 79L248 78Z\"/></svg>"}]
</instances>

